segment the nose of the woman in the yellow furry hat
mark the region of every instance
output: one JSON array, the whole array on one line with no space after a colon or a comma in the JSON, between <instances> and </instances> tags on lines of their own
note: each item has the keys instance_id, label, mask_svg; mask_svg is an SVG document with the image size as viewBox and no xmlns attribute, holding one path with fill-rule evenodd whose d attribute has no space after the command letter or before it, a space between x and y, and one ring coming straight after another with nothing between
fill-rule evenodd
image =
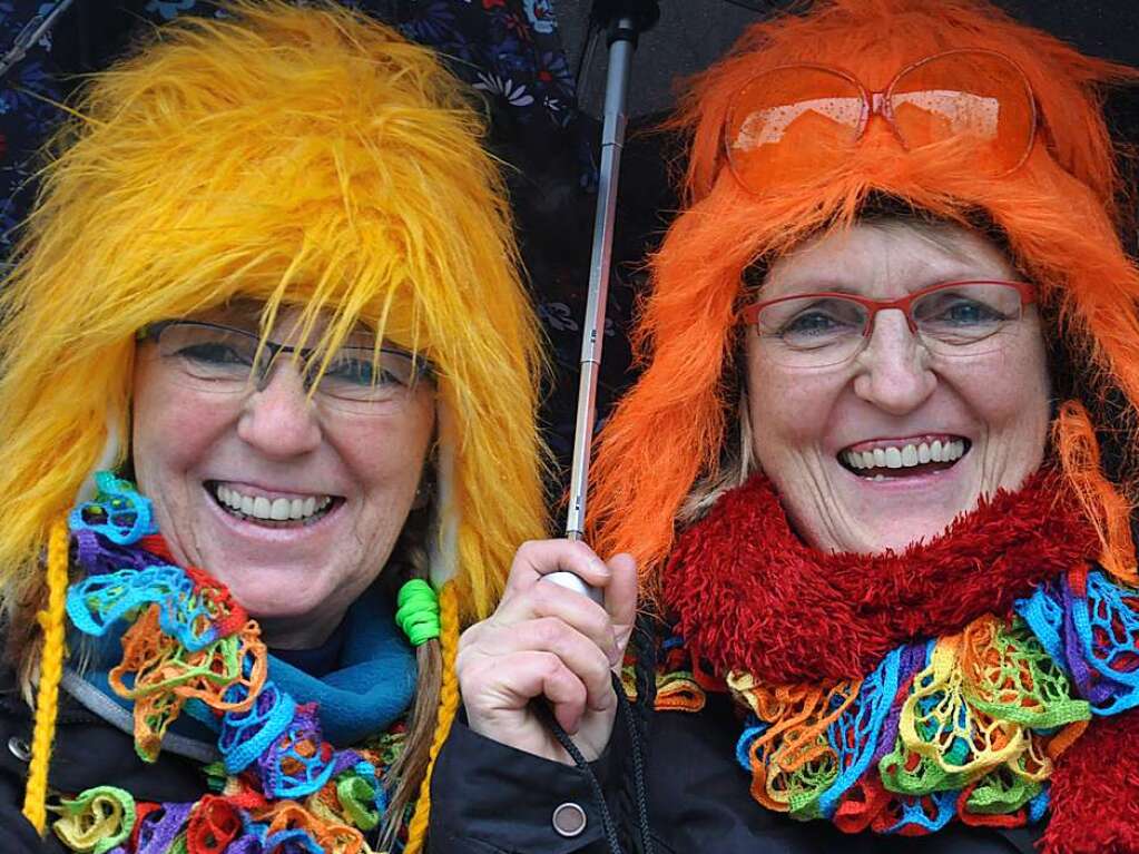
<instances>
[{"instance_id":1,"label":"nose of the woman in the yellow furry hat","mask_svg":"<svg viewBox=\"0 0 1139 854\"><path fill-rule=\"evenodd\" d=\"M272 459L314 451L323 437L320 418L295 364L277 359L263 387L249 393L237 422L238 437Z\"/></svg>"}]
</instances>

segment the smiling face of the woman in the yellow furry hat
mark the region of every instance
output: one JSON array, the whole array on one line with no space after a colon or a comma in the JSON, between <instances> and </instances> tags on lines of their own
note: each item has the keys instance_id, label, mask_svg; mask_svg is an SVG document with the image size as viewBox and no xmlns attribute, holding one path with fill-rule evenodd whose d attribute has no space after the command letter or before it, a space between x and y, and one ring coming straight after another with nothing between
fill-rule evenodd
<instances>
[{"instance_id":1,"label":"smiling face of the woman in the yellow furry hat","mask_svg":"<svg viewBox=\"0 0 1139 854\"><path fill-rule=\"evenodd\" d=\"M256 334L247 307L199 319ZM282 312L270 338L290 343L281 330L294 320ZM271 646L319 644L383 569L415 503L432 384L368 407L310 401L281 356L260 391L222 394L187 381L185 362L230 356L159 340L139 344L132 408L134 474L159 529L179 561L229 586Z\"/></svg>"}]
</instances>

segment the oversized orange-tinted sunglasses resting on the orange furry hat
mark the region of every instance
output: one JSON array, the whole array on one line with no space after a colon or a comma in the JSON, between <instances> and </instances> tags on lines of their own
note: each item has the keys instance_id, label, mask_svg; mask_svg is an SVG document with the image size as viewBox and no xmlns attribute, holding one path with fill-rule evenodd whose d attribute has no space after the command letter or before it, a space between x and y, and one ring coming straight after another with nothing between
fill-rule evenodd
<instances>
[{"instance_id":1,"label":"oversized orange-tinted sunglasses resting on the orange furry hat","mask_svg":"<svg viewBox=\"0 0 1139 854\"><path fill-rule=\"evenodd\" d=\"M903 150L942 146L991 176L1024 163L1039 124L1027 76L994 50L924 57L878 91L845 68L797 63L761 72L732 97L723 128L728 166L761 195L809 180L847 159L872 116Z\"/></svg>"}]
</instances>

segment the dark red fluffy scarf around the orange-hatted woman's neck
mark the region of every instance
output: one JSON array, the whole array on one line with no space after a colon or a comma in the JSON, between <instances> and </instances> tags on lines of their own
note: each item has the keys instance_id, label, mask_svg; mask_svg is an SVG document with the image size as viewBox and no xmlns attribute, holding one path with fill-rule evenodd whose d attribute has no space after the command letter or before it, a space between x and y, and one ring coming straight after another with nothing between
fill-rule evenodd
<instances>
[{"instance_id":1,"label":"dark red fluffy scarf around the orange-hatted woman's neck","mask_svg":"<svg viewBox=\"0 0 1139 854\"><path fill-rule=\"evenodd\" d=\"M790 529L762 475L680 537L664 601L695 659L768 684L858 679L892 649L961 631L1099 551L1055 474L999 492L895 555L826 555ZM1092 721L1057 762L1050 854L1139 852L1139 711Z\"/></svg>"}]
</instances>

